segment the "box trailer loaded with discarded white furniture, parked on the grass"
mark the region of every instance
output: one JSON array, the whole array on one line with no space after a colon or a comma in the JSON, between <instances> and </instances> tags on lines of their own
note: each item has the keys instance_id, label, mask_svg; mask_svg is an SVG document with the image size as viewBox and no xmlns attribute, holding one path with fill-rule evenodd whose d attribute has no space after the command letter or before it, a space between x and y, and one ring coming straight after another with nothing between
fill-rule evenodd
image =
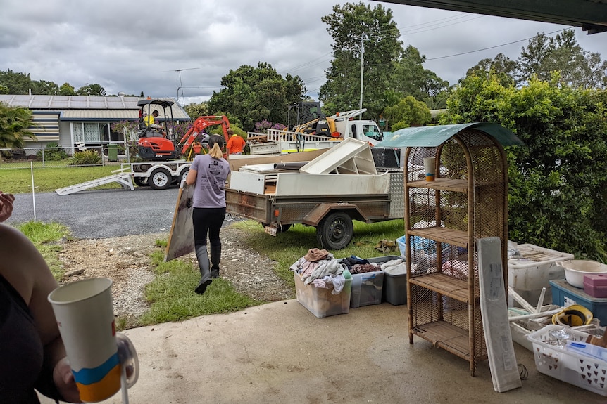
<instances>
[{"instance_id":1,"label":"box trailer loaded with discarded white furniture, parked on the grass","mask_svg":"<svg viewBox=\"0 0 607 404\"><path fill-rule=\"evenodd\" d=\"M227 213L261 223L270 235L301 223L316 228L320 247L343 249L354 220L403 218L403 171L398 162L376 167L367 142L346 139L309 162L266 159L232 170L225 197Z\"/></svg>"}]
</instances>

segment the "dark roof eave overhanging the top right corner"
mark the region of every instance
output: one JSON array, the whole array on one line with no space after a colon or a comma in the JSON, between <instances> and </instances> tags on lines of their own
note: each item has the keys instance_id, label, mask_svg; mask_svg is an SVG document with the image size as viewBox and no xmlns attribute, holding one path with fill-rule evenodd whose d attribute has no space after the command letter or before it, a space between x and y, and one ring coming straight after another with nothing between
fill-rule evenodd
<instances>
[{"instance_id":1,"label":"dark roof eave overhanging the top right corner","mask_svg":"<svg viewBox=\"0 0 607 404\"><path fill-rule=\"evenodd\" d=\"M607 0L385 0L497 17L582 27L588 34L607 31Z\"/></svg>"}]
</instances>

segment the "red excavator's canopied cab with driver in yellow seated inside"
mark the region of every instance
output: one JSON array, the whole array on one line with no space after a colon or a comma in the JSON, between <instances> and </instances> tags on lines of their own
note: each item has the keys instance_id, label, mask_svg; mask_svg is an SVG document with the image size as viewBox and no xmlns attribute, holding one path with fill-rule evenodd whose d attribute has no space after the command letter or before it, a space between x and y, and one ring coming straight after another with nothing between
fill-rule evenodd
<instances>
[{"instance_id":1,"label":"red excavator's canopied cab with driver in yellow seated inside","mask_svg":"<svg viewBox=\"0 0 607 404\"><path fill-rule=\"evenodd\" d=\"M175 123L173 101L147 98L139 100L139 141L137 153L146 160L175 159L179 153L175 148ZM154 112L158 115L152 120ZM153 124L151 122L154 122Z\"/></svg>"}]
</instances>

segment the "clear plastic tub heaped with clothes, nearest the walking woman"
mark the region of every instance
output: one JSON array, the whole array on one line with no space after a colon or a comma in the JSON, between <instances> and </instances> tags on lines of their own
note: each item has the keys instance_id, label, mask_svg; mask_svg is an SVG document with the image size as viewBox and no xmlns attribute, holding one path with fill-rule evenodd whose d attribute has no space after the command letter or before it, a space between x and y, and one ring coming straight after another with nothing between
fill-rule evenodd
<instances>
[{"instance_id":1,"label":"clear plastic tub heaped with clothes, nearest the walking woman","mask_svg":"<svg viewBox=\"0 0 607 404\"><path fill-rule=\"evenodd\" d=\"M333 289L306 285L299 273L293 273L295 277L295 294L297 301L313 315L318 318L330 315L347 314L350 311L350 294L352 290L352 279L346 279L344 289L339 294L332 294Z\"/></svg>"}]
</instances>

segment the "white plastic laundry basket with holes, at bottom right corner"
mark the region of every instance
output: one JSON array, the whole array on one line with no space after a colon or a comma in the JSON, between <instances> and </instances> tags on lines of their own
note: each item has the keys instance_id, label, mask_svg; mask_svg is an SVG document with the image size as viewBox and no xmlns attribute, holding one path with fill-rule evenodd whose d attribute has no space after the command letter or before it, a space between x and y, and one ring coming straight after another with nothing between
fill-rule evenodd
<instances>
[{"instance_id":1,"label":"white plastic laundry basket with holes, at bottom right corner","mask_svg":"<svg viewBox=\"0 0 607 404\"><path fill-rule=\"evenodd\" d=\"M549 344L549 332L562 328L560 325L546 325L542 330L532 332L527 338L533 344L533 358L538 372L547 374L582 389L607 396L607 361L590 356L570 347ZM570 341L586 341L589 334L568 330ZM568 343L569 344L569 343Z\"/></svg>"}]
</instances>

